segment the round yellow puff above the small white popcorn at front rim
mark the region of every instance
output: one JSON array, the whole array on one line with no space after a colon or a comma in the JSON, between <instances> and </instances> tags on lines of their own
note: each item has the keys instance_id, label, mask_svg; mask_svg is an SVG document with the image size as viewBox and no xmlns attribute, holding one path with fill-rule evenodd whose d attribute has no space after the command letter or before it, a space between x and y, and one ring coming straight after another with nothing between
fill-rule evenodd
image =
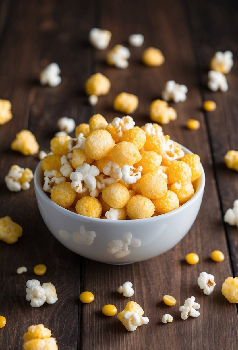
<instances>
[{"instance_id":1,"label":"round yellow puff above the small white popcorn at front rim","mask_svg":"<svg viewBox=\"0 0 238 350\"><path fill-rule=\"evenodd\" d=\"M111 183L102 191L103 200L112 208L123 208L129 201L128 189L118 182Z\"/></svg>"}]
</instances>

